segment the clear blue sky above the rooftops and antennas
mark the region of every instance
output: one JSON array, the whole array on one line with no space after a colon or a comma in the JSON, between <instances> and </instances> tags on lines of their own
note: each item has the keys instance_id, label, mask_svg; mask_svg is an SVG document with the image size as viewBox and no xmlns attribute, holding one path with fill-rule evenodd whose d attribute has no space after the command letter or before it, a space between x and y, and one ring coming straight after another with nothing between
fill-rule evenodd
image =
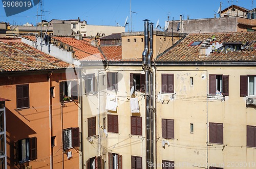
<instances>
[{"instance_id":1,"label":"clear blue sky above the rooftops and antennas","mask_svg":"<svg viewBox=\"0 0 256 169\"><path fill-rule=\"evenodd\" d=\"M220 2L222 2L222 9L232 4L249 10L256 6L256 1L253 2L252 0L42 0L42 10L44 10L42 14L40 5L36 5L27 11L7 17L3 7L4 1L2 0L0 3L0 21L10 24L20 25L28 22L36 25L37 22L41 21L41 17L47 21L52 19L69 20L79 17L81 21L86 20L87 24L124 26L128 16L129 25L127 26L129 26L130 31L131 25L132 31L143 31L144 19L155 24L159 19L159 25L164 27L165 21L168 20L167 16L169 16L169 20L179 20L180 15L183 15L184 19L187 19L187 15L189 15L189 19L213 18L220 7ZM130 2L132 19L130 17ZM127 26L125 31L128 31Z\"/></svg>"}]
</instances>

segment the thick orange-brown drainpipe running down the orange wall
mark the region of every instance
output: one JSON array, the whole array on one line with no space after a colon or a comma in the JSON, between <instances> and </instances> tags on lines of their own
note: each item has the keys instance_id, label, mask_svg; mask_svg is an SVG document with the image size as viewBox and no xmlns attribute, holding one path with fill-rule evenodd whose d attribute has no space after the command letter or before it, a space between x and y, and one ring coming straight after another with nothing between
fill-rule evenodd
<instances>
[{"instance_id":1,"label":"thick orange-brown drainpipe running down the orange wall","mask_svg":"<svg viewBox=\"0 0 256 169\"><path fill-rule=\"evenodd\" d=\"M53 168L52 160L52 106L51 106L51 75L53 71L48 75L48 84L49 84L49 130L50 130L50 168Z\"/></svg>"}]
</instances>

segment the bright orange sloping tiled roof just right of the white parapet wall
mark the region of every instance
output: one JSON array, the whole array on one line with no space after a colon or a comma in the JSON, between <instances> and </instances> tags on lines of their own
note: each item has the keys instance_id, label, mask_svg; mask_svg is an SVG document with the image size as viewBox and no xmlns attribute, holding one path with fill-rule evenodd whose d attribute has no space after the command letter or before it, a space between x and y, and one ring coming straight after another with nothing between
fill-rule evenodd
<instances>
[{"instance_id":1,"label":"bright orange sloping tiled roof just right of the white parapet wall","mask_svg":"<svg viewBox=\"0 0 256 169\"><path fill-rule=\"evenodd\" d=\"M72 37L53 36L53 39L72 46L75 56L80 61L102 61L105 60L98 47L91 45L87 40L77 40Z\"/></svg>"}]
</instances>

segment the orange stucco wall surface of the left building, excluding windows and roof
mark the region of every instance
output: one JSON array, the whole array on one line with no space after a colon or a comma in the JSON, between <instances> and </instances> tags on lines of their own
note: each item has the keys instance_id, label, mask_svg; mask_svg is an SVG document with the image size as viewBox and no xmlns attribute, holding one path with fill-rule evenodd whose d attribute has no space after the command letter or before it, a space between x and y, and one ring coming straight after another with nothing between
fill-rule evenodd
<instances>
[{"instance_id":1,"label":"orange stucco wall surface of the left building, excluding windows and roof","mask_svg":"<svg viewBox=\"0 0 256 169\"><path fill-rule=\"evenodd\" d=\"M52 130L49 120L49 81L47 74L2 76L0 77L0 95L8 98L6 102L7 128L7 168L50 168L52 154L53 168L79 168L79 148L62 150L62 129L78 127L79 107L74 102L59 102L59 81L65 80L65 73L52 74L50 85L54 86L51 98ZM16 85L29 84L30 108L16 109ZM62 113L62 116L61 116ZM63 127L62 127L63 121ZM51 147L51 133L56 136L56 144ZM37 137L37 159L23 164L15 164L15 142L19 139ZM72 158L67 159L67 151L72 151ZM64 161L64 162L62 162Z\"/></svg>"}]
</instances>

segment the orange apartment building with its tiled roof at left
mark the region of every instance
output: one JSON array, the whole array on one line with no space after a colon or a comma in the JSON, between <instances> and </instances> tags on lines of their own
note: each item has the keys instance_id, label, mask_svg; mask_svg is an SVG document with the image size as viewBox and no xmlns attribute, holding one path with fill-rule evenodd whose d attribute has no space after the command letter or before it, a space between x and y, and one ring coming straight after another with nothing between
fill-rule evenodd
<instances>
[{"instance_id":1,"label":"orange apartment building with its tiled roof at left","mask_svg":"<svg viewBox=\"0 0 256 169\"><path fill-rule=\"evenodd\" d=\"M20 38L0 46L1 168L81 167L78 67Z\"/></svg>"}]
</instances>

